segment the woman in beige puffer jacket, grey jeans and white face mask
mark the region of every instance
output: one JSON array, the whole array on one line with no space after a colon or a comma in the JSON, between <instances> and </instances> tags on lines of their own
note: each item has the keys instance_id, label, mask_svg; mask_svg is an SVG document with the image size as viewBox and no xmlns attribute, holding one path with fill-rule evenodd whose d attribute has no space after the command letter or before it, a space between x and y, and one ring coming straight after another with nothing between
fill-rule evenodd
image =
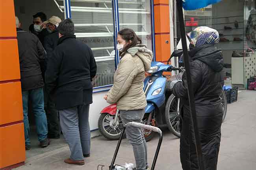
<instances>
[{"instance_id":1,"label":"woman in beige puffer jacket, grey jeans and white face mask","mask_svg":"<svg viewBox=\"0 0 256 170\"><path fill-rule=\"evenodd\" d=\"M124 124L141 122L147 106L143 91L145 71L152 61L152 51L141 45L141 39L132 29L123 29L117 36L120 63L114 75L114 84L104 97L109 104L117 103ZM146 170L147 146L141 128L128 126L126 137L133 146L136 170Z\"/></svg>"}]
</instances>

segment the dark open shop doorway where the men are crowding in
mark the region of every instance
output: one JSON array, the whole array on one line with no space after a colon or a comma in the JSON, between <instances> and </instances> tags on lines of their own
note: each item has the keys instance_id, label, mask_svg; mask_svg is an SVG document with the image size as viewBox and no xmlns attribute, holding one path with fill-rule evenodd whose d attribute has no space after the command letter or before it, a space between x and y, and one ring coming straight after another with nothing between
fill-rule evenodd
<instances>
[{"instance_id":1,"label":"dark open shop doorway where the men are crowding in","mask_svg":"<svg viewBox=\"0 0 256 170\"><path fill-rule=\"evenodd\" d=\"M33 24L33 15L39 12L46 14L47 19L51 16L58 16L63 20L65 18L64 2L63 0L14 0L15 15L18 16L21 27L24 31L30 31L29 27ZM59 8L62 5L63 9ZM30 141L31 149L26 151L26 158L33 157L35 155L43 154L51 150L62 148L66 145L63 135L60 139L52 139L50 146L46 148L39 147L39 141L37 140L37 133L35 128L35 117L31 111L31 105L29 105L29 122L30 122Z\"/></svg>"}]
</instances>

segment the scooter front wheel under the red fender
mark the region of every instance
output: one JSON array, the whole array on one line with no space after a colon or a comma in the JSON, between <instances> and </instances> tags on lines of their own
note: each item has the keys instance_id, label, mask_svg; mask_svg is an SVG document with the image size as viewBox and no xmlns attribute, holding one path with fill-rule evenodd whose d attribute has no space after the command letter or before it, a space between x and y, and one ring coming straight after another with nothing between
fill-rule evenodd
<instances>
[{"instance_id":1,"label":"scooter front wheel under the red fender","mask_svg":"<svg viewBox=\"0 0 256 170\"><path fill-rule=\"evenodd\" d=\"M109 140L118 140L120 138L123 123L118 119L119 125L116 129L110 126L110 121L115 119L115 115L109 113L102 113L98 119L98 128L100 133Z\"/></svg>"}]
</instances>

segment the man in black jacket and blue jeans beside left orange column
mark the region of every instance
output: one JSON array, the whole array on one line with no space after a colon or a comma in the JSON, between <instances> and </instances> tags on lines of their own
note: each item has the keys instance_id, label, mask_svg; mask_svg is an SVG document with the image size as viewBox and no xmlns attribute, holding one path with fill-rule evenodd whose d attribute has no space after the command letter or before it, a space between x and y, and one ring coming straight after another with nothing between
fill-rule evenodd
<instances>
[{"instance_id":1,"label":"man in black jacket and blue jeans beside left orange column","mask_svg":"<svg viewBox=\"0 0 256 170\"><path fill-rule=\"evenodd\" d=\"M45 50L39 39L20 29L20 22L16 16L17 39L19 47L20 77L22 89L24 132L26 150L30 149L30 126L28 122L28 102L32 101L32 112L35 114L37 136L41 147L49 144L47 140L47 121L44 110L43 77Z\"/></svg>"}]
</instances>

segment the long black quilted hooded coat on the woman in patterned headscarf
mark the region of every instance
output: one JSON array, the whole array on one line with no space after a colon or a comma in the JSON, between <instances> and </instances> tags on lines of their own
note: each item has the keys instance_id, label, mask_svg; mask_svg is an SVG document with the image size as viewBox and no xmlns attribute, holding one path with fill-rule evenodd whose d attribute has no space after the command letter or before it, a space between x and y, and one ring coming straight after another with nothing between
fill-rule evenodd
<instances>
[{"instance_id":1,"label":"long black quilted hooded coat on the woman in patterned headscarf","mask_svg":"<svg viewBox=\"0 0 256 170\"><path fill-rule=\"evenodd\" d=\"M223 55L221 50L213 45L204 45L189 51L189 57L204 166L205 170L216 170L223 117L219 98L224 85ZM184 104L180 137L182 168L198 170L195 138L189 114L186 73L182 76L182 82L174 85L173 94L180 97Z\"/></svg>"}]
</instances>

